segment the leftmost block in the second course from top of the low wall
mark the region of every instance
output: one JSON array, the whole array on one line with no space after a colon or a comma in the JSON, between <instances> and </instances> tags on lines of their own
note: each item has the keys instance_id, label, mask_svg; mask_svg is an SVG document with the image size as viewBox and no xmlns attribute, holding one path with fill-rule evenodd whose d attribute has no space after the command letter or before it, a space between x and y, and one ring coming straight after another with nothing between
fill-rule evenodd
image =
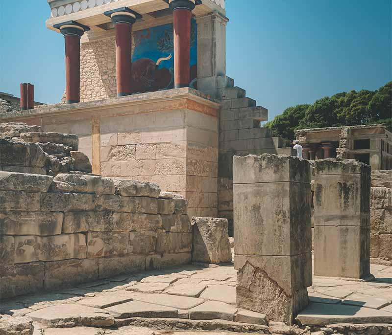
<instances>
[{"instance_id":1,"label":"leftmost block in the second course from top of the low wall","mask_svg":"<svg viewBox=\"0 0 392 335\"><path fill-rule=\"evenodd\" d=\"M0 191L0 211L40 210L41 193Z\"/></svg>"}]
</instances>

